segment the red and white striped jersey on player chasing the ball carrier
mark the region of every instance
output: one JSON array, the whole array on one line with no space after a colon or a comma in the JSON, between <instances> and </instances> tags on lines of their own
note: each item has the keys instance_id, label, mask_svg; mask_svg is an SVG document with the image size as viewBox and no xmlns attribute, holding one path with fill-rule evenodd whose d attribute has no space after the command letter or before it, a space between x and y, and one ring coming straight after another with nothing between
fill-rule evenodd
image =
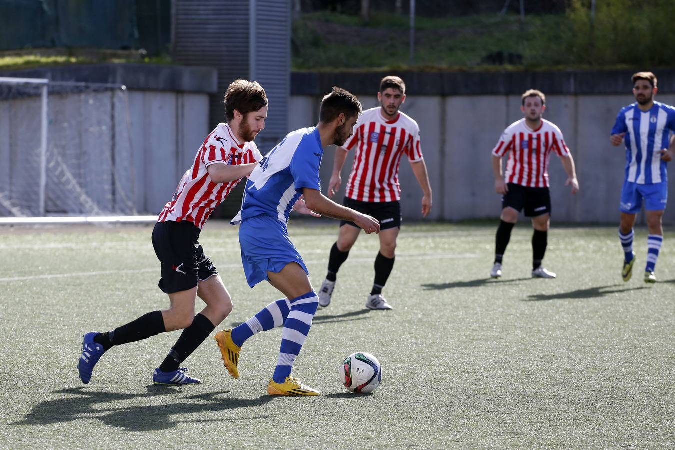
<instances>
[{"instance_id":1,"label":"red and white striped jersey on player chasing the ball carrier","mask_svg":"<svg viewBox=\"0 0 675 450\"><path fill-rule=\"evenodd\" d=\"M262 158L254 142L240 144L229 125L220 123L197 151L194 164L183 175L173 198L159 214L158 222L188 221L202 229L215 207L242 181L216 184L207 167L217 163L249 164Z\"/></svg>"}]
</instances>

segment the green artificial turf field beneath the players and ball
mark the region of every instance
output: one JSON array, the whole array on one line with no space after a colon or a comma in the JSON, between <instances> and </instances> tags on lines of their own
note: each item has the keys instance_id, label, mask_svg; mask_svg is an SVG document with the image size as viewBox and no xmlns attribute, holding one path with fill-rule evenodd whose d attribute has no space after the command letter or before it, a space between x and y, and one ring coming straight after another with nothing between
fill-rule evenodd
<instances>
[{"instance_id":1,"label":"green artificial turf field beneath the players and ball","mask_svg":"<svg viewBox=\"0 0 675 450\"><path fill-rule=\"evenodd\" d=\"M389 312L365 309L378 245L362 234L294 368L323 396L281 398L266 392L279 329L244 345L239 380L210 337L184 364L202 385L155 387L173 332L111 349L85 387L83 333L167 307L152 227L0 228L0 446L675 447L675 233L659 283L647 286L645 229L629 283L614 226L554 227L545 266L558 279L531 279L524 223L493 281L495 229L404 226ZM323 220L290 224L316 289L337 231ZM246 285L236 233L211 221L200 239L235 302L217 329L279 298L266 283ZM382 363L373 395L338 381L354 351Z\"/></svg>"}]
</instances>

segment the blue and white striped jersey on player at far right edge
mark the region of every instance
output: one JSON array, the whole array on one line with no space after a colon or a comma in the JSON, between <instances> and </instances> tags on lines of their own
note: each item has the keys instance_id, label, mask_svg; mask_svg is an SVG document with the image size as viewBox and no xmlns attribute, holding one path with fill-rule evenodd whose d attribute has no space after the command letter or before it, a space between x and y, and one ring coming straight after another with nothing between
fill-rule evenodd
<instances>
[{"instance_id":1,"label":"blue and white striped jersey on player at far right edge","mask_svg":"<svg viewBox=\"0 0 675 450\"><path fill-rule=\"evenodd\" d=\"M654 102L643 113L637 103L619 111L612 134L626 133L626 181L655 184L668 181L667 163L659 151L667 150L675 132L675 108Z\"/></svg>"}]
</instances>

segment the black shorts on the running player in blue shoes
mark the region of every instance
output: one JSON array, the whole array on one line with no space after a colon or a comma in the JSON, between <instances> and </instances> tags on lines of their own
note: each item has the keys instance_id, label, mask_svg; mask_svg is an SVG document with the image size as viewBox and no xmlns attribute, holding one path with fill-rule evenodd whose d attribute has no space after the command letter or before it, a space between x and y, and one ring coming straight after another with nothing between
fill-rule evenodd
<instances>
[{"instance_id":1,"label":"black shorts on the running player in blue shoes","mask_svg":"<svg viewBox=\"0 0 675 450\"><path fill-rule=\"evenodd\" d=\"M200 229L191 222L158 222L153 247L162 263L159 289L165 293L189 291L218 271L199 245Z\"/></svg>"}]
</instances>

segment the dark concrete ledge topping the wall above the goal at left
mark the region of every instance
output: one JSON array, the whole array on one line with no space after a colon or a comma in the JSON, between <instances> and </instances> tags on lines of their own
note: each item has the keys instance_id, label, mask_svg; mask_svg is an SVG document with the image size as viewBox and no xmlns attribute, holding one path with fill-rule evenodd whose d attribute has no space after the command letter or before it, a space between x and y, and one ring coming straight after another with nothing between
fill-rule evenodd
<instances>
[{"instance_id":1,"label":"dark concrete ledge topping the wall above the goal at left","mask_svg":"<svg viewBox=\"0 0 675 450\"><path fill-rule=\"evenodd\" d=\"M124 84L132 90L214 94L218 88L218 73L212 67L105 63L24 69L0 72L0 76L47 78L61 82Z\"/></svg>"}]
</instances>

